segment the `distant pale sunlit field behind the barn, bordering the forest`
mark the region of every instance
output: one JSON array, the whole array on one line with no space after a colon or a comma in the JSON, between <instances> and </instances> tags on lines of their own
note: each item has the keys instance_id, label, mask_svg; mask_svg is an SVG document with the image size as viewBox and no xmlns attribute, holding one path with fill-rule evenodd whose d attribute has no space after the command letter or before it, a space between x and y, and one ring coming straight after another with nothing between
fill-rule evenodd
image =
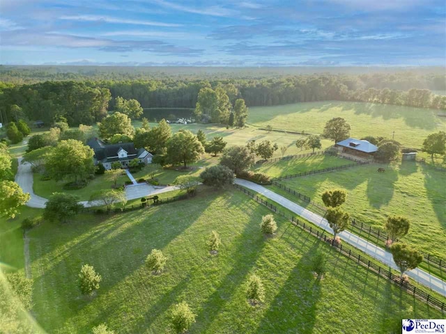
<instances>
[{"instance_id":1,"label":"distant pale sunlit field behind the barn, bordering the forest","mask_svg":"<svg viewBox=\"0 0 446 334\"><path fill-rule=\"evenodd\" d=\"M436 109L372 104L363 102L306 102L282 106L249 108L247 121L261 127L321 134L325 123L345 118L351 125L351 136L384 136L406 146L420 148L427 135L444 131L446 119L438 117Z\"/></svg>"}]
</instances>

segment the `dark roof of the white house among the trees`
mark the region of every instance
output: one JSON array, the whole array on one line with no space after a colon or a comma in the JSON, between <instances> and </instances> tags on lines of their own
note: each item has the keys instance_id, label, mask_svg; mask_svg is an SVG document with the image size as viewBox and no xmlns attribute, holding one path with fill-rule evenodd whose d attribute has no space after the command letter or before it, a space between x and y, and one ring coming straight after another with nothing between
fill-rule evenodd
<instances>
[{"instance_id":1,"label":"dark roof of the white house among the trees","mask_svg":"<svg viewBox=\"0 0 446 334\"><path fill-rule=\"evenodd\" d=\"M139 157L142 153L146 152L144 148L138 150L134 148L133 143L118 143L118 144L106 144L98 138L91 138L87 141L86 145L89 145L95 152L95 158L102 162L114 162L114 161L126 161ZM119 158L118 152L120 150L127 152L127 158ZM150 153L149 153L150 154Z\"/></svg>"}]
</instances>

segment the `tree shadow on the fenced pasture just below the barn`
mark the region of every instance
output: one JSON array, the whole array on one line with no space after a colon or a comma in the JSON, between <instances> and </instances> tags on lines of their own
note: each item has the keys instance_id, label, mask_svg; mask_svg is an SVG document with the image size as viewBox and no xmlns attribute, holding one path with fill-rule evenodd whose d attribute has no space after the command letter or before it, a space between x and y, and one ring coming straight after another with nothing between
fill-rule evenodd
<instances>
[{"instance_id":1,"label":"tree shadow on the fenced pasture just below the barn","mask_svg":"<svg viewBox=\"0 0 446 334\"><path fill-rule=\"evenodd\" d=\"M367 180L366 195L371 207L379 209L389 204L394 193L394 183L398 180L398 173L387 166L384 173L371 171Z\"/></svg>"}]
</instances>

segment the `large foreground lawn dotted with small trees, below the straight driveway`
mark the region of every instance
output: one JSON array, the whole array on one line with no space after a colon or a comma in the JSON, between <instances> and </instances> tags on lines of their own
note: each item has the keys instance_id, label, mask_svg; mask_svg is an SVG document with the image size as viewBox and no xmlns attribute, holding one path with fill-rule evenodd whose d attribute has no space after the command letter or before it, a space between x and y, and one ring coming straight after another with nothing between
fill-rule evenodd
<instances>
[{"instance_id":1,"label":"large foreground lawn dotted with small trees, below the straight driveway","mask_svg":"<svg viewBox=\"0 0 446 334\"><path fill-rule=\"evenodd\" d=\"M102 322L116 333L171 333L169 310L180 301L197 314L190 333L399 333L401 319L444 317L306 232L284 234L283 218L276 217L277 237L263 237L259 223L268 213L229 189L146 211L44 223L29 232L33 315L50 333L91 333ZM205 246L212 230L222 237L216 256ZM153 248L169 257L160 276L144 266ZM311 266L317 250L328 268L320 283ZM93 298L77 288L85 263L103 278ZM266 286L257 308L245 298L251 273Z\"/></svg>"}]
</instances>

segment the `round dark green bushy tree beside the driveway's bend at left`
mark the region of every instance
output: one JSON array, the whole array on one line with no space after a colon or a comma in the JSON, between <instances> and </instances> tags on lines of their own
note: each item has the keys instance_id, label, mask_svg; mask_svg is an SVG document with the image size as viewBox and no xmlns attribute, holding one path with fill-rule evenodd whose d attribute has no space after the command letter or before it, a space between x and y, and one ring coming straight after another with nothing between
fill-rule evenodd
<instances>
[{"instance_id":1,"label":"round dark green bushy tree beside the driveway's bend at left","mask_svg":"<svg viewBox=\"0 0 446 334\"><path fill-rule=\"evenodd\" d=\"M69 193L53 193L45 203L43 216L49 221L66 223L68 218L76 216L84 205L78 203L79 198Z\"/></svg>"}]
</instances>

